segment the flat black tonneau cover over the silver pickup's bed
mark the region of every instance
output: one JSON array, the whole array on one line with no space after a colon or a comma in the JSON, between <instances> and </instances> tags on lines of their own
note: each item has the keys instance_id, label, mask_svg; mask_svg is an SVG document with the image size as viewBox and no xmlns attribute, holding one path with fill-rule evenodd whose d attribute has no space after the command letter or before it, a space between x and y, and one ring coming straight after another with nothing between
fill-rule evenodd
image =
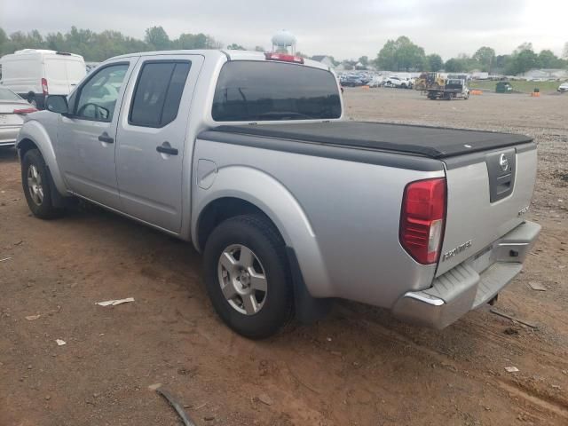
<instances>
[{"instance_id":1,"label":"flat black tonneau cover over the silver pickup's bed","mask_svg":"<svg viewBox=\"0 0 568 426\"><path fill-rule=\"evenodd\" d=\"M304 122L219 126L213 130L267 138L352 146L441 159L454 155L529 143L533 138L511 133L459 130L384 122Z\"/></svg>"}]
</instances>

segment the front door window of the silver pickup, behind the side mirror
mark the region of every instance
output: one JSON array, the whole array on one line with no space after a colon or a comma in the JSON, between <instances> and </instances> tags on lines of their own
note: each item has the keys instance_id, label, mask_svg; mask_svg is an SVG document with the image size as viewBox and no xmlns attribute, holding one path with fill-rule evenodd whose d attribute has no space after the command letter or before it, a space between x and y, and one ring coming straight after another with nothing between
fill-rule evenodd
<instances>
[{"instance_id":1,"label":"front door window of the silver pickup, behind the side mirror","mask_svg":"<svg viewBox=\"0 0 568 426\"><path fill-rule=\"evenodd\" d=\"M93 75L78 93L75 116L99 122L111 122L128 67L128 64L112 65L102 68Z\"/></svg>"}]
</instances>

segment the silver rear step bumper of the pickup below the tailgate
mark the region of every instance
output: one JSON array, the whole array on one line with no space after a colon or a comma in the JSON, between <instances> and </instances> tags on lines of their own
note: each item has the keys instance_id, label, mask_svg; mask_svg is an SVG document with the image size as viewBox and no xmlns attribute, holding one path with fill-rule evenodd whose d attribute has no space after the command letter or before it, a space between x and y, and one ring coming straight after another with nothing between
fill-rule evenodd
<instances>
[{"instance_id":1,"label":"silver rear step bumper of the pickup below the tailgate","mask_svg":"<svg viewBox=\"0 0 568 426\"><path fill-rule=\"evenodd\" d=\"M539 233L540 225L533 222L518 225L494 241L490 250L484 250L490 258L485 270L477 272L479 256L474 256L440 275L431 288L401 296L392 312L399 319L426 327L449 326L490 301L521 272Z\"/></svg>"}]
</instances>

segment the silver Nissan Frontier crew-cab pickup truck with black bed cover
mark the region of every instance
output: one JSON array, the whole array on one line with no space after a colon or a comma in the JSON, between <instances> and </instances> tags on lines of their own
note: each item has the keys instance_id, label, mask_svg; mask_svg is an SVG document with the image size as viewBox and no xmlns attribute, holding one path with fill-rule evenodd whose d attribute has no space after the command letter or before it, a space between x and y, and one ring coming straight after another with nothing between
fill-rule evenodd
<instances>
[{"instance_id":1,"label":"silver Nissan Frontier crew-cab pickup truck with black bed cover","mask_svg":"<svg viewBox=\"0 0 568 426\"><path fill-rule=\"evenodd\" d=\"M46 106L17 141L33 214L80 197L192 241L214 308L250 338L337 297L446 327L494 301L540 232L531 138L345 120L311 60L130 54Z\"/></svg>"}]
</instances>

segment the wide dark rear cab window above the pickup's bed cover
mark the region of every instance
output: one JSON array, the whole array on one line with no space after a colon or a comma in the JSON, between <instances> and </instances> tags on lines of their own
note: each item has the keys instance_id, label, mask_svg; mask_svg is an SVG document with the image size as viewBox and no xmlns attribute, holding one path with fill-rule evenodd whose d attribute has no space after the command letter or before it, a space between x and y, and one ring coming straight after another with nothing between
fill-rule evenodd
<instances>
[{"instance_id":1,"label":"wide dark rear cab window above the pickup's bed cover","mask_svg":"<svg viewBox=\"0 0 568 426\"><path fill-rule=\"evenodd\" d=\"M235 60L221 69L211 114L217 122L333 119L341 116L341 101L329 71Z\"/></svg>"}]
</instances>

